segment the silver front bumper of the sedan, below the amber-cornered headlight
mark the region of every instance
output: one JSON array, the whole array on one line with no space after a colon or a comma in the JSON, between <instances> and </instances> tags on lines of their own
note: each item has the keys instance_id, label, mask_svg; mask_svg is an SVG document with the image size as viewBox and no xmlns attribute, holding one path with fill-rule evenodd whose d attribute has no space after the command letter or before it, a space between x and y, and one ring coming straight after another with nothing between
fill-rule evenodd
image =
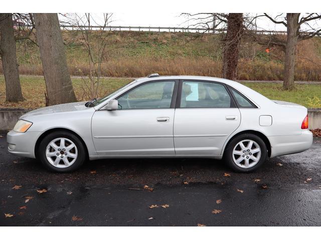
<instances>
[{"instance_id":1,"label":"silver front bumper of the sedan, below the amber-cornered headlight","mask_svg":"<svg viewBox=\"0 0 321 240\"><path fill-rule=\"evenodd\" d=\"M11 130L7 134L8 151L19 156L35 158L35 145L41 132L16 132Z\"/></svg>"}]
</instances>

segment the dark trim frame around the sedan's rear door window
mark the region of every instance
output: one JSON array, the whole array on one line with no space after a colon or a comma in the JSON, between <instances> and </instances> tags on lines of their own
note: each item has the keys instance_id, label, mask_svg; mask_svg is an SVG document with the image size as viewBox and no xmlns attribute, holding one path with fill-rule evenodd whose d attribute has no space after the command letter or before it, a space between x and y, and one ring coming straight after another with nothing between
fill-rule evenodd
<instances>
[{"instance_id":1,"label":"dark trim frame around the sedan's rear door window","mask_svg":"<svg viewBox=\"0 0 321 240\"><path fill-rule=\"evenodd\" d=\"M183 88L183 82L184 81L192 81L192 82L208 82L208 83L216 83L223 85L227 94L231 98L231 103L230 107L181 107L181 99L182 99L182 88ZM179 89L178 89L178 94L176 98L176 108L181 108L181 109L197 109L197 108L209 108L209 109L230 109L230 108L238 108L236 101L234 99L234 96L231 94L230 90L228 89L227 85L223 82L218 82L218 81L209 81L209 80L194 80L194 79L182 79L179 82Z\"/></svg>"}]
</instances>

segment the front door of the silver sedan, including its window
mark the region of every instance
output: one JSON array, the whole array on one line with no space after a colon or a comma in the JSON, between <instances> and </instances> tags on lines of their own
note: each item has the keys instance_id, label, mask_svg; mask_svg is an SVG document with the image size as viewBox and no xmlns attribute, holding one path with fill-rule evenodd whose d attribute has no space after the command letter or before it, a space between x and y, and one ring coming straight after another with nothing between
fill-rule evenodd
<instances>
[{"instance_id":1,"label":"front door of the silver sedan, including its window","mask_svg":"<svg viewBox=\"0 0 321 240\"><path fill-rule=\"evenodd\" d=\"M177 80L153 80L116 99L118 109L97 110L92 136L99 155L175 155L173 125Z\"/></svg>"}]
</instances>

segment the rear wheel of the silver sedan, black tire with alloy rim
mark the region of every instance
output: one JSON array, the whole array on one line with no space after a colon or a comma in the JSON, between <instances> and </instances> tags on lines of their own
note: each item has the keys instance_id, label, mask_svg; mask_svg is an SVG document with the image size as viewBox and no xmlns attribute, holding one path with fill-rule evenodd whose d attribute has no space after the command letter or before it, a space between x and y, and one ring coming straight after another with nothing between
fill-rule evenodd
<instances>
[{"instance_id":1,"label":"rear wheel of the silver sedan, black tire with alloy rim","mask_svg":"<svg viewBox=\"0 0 321 240\"><path fill-rule=\"evenodd\" d=\"M252 133L234 137L224 152L225 162L236 172L252 172L264 163L266 157L265 142Z\"/></svg>"}]
</instances>

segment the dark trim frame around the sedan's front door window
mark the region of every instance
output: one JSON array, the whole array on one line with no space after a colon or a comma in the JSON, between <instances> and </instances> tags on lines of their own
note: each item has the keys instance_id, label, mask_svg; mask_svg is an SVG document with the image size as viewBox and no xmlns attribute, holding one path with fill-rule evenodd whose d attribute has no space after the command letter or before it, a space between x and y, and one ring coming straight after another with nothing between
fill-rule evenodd
<instances>
[{"instance_id":1,"label":"dark trim frame around the sedan's front door window","mask_svg":"<svg viewBox=\"0 0 321 240\"><path fill-rule=\"evenodd\" d=\"M174 88L173 88L173 95L172 95L172 99L171 99L171 105L170 107L155 107L155 108L129 108L129 109L115 109L115 110L149 110L149 109L173 109L175 108L175 102L176 102L176 98L177 98L177 93L178 93L178 85L179 85L179 80L178 79L157 79L157 80L150 80L150 81L144 81L141 82L131 88L129 88L128 90L124 91L123 93L121 93L120 95L116 96L113 99L118 99L119 97L122 97L123 95L127 94L128 92L134 90L137 87L140 87L142 85L148 84L148 83L153 83L153 82L163 82L163 81L174 81Z\"/></svg>"}]
</instances>

